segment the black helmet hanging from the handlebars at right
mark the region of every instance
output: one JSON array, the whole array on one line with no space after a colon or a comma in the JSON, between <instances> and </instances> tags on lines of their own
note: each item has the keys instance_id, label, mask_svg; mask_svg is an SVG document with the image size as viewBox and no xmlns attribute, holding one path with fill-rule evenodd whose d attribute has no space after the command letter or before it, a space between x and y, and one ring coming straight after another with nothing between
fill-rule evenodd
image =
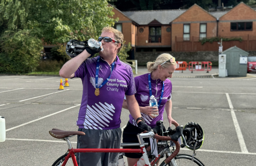
<instances>
[{"instance_id":1,"label":"black helmet hanging from the handlebars at right","mask_svg":"<svg viewBox=\"0 0 256 166\"><path fill-rule=\"evenodd\" d=\"M185 141L187 145L189 146L189 147L186 146L188 149L197 150L201 148L204 142L204 131L199 123L197 124L195 122L187 123L183 128L183 135L185 137Z\"/></svg>"}]
</instances>

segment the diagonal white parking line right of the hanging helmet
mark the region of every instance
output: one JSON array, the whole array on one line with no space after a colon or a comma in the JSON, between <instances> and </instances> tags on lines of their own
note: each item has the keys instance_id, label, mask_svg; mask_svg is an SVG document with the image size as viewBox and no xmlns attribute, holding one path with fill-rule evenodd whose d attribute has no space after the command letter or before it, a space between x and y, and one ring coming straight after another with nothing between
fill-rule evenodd
<instances>
[{"instance_id":1,"label":"diagonal white parking line right of the hanging helmet","mask_svg":"<svg viewBox=\"0 0 256 166\"><path fill-rule=\"evenodd\" d=\"M238 142L239 142L241 151L244 152L244 153L248 153L243 134L241 132L240 126L239 126L238 121L237 121L236 114L233 111L234 107L233 107L233 104L230 100L229 93L226 93L226 97L227 97L227 100L228 100L228 103L229 103L229 108L231 109L230 112L231 112L231 116L232 116L232 119L233 119L233 123L234 123L235 129L236 129L236 132L237 132L237 138L238 138Z\"/></svg>"}]
</instances>

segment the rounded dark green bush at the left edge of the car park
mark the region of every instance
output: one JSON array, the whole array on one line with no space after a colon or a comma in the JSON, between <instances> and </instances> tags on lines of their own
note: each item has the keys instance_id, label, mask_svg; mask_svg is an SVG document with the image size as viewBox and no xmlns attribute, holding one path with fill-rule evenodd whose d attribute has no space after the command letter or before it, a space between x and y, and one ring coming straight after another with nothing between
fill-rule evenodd
<instances>
[{"instance_id":1,"label":"rounded dark green bush at the left edge of the car park","mask_svg":"<svg viewBox=\"0 0 256 166\"><path fill-rule=\"evenodd\" d=\"M38 66L43 45L29 30L7 31L0 42L0 73L27 73Z\"/></svg>"}]
</instances>

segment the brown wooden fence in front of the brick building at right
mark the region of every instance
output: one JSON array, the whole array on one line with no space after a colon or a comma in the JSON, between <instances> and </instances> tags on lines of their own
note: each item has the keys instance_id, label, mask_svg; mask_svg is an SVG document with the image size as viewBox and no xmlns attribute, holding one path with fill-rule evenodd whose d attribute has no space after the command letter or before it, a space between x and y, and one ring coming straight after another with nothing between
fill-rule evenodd
<instances>
[{"instance_id":1,"label":"brown wooden fence in front of the brick building at right","mask_svg":"<svg viewBox=\"0 0 256 166\"><path fill-rule=\"evenodd\" d=\"M237 46L245 51L256 51L256 36L236 36L236 37L219 37L219 38L242 38L242 41L222 41L223 51ZM194 52L194 51L218 51L220 41L206 42L202 45L200 38L193 37L190 40L177 38L175 36L176 52Z\"/></svg>"}]
</instances>

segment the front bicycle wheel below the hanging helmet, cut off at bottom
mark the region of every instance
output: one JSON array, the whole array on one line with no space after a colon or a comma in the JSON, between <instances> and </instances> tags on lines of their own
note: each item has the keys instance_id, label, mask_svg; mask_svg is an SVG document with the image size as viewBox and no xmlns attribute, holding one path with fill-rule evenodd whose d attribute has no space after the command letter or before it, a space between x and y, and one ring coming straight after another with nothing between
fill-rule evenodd
<instances>
[{"instance_id":1,"label":"front bicycle wheel below the hanging helmet, cut off at bottom","mask_svg":"<svg viewBox=\"0 0 256 166\"><path fill-rule=\"evenodd\" d=\"M199 166L204 166L204 164L198 160L196 157L194 157L193 161L191 160L192 159L192 156L191 155L187 155L187 154L178 154L177 156L175 156L175 161L177 163L178 166L192 166L192 165L199 165ZM160 164L160 166L164 166L166 165L164 162L162 162ZM167 165L169 166L173 166L170 163L168 163Z\"/></svg>"}]
</instances>

